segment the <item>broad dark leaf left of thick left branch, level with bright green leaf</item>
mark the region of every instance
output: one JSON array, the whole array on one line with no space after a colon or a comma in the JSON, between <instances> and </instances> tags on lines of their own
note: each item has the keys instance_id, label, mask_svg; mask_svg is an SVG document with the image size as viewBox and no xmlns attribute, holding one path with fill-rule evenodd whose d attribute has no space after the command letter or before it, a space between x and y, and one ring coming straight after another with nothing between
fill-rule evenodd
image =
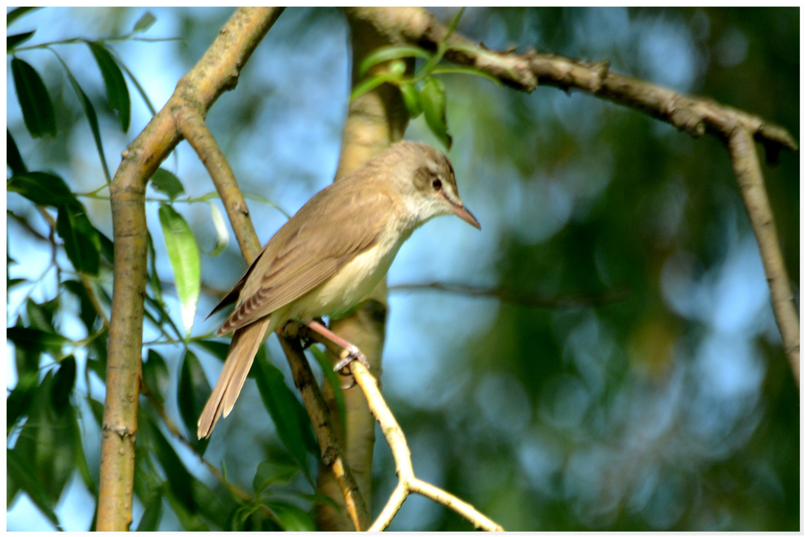
<instances>
[{"instance_id":1,"label":"broad dark leaf left of thick left branch, level with bright green leaf","mask_svg":"<svg viewBox=\"0 0 805 537\"><path fill-rule=\"evenodd\" d=\"M64 241L64 251L76 272L97 276L101 265L100 241L84 207L64 205L56 219L56 232Z\"/></svg>"}]
</instances>

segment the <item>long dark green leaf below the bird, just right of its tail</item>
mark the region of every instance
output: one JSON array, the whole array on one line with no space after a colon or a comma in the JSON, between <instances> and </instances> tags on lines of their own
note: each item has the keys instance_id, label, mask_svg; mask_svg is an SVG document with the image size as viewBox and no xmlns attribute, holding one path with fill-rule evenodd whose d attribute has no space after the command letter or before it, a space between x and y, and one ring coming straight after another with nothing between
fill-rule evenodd
<instances>
[{"instance_id":1,"label":"long dark green leaf below the bird, just right of its tail","mask_svg":"<svg viewBox=\"0 0 805 537\"><path fill-rule=\"evenodd\" d=\"M254 357L252 369L260 397L271 419L274 420L279 439L299 463L299 468L303 470L308 480L312 481L308 452L319 456L319 448L308 413L285 384L282 372L266 359L264 346L260 347Z\"/></svg>"}]
</instances>

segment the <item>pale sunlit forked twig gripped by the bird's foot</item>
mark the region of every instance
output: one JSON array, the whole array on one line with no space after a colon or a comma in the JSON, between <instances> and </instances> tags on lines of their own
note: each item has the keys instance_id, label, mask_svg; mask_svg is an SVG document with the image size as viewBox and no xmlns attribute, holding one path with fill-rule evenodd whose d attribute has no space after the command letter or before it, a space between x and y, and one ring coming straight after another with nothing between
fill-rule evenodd
<instances>
[{"instance_id":1,"label":"pale sunlit forked twig gripped by the bird's foot","mask_svg":"<svg viewBox=\"0 0 805 537\"><path fill-rule=\"evenodd\" d=\"M291 334L298 334L299 336L317 341L327 347L331 352L338 355L345 355L348 351L340 349L336 344L330 341L327 337L314 332L308 326L302 323L289 323L286 325L287 332ZM366 402L369 403L369 410L372 411L375 419L380 423L380 428L383 436L386 437L391 448L391 454L394 456L394 464L397 466L397 476L399 483L391 494L386 506L378 515L378 518L369 526L367 531L383 531L388 527L394 514L397 514L400 506L403 505L408 494L417 493L422 494L427 498L431 498L434 502L440 503L445 507L456 511L477 528L486 531L503 531L503 528L481 514L469 503L456 498L447 491L440 489L434 485L419 480L414 475L414 466L411 464L411 451L408 449L408 443L403 429L400 428L397 420L394 419L394 414L391 413L386 400L383 399L380 390L378 389L378 381L374 375L369 373L369 370L359 361L353 361L349 365L350 370L357 382L361 386L361 390L366 397Z\"/></svg>"}]
</instances>

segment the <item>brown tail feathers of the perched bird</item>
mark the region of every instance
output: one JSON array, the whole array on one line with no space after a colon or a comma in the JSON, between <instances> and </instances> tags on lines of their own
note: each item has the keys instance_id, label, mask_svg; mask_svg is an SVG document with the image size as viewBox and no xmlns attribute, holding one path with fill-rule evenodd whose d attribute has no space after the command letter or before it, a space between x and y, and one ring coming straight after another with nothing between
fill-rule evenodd
<instances>
[{"instance_id":1,"label":"brown tail feathers of the perched bird","mask_svg":"<svg viewBox=\"0 0 805 537\"><path fill-rule=\"evenodd\" d=\"M254 361L262 340L266 336L266 328L270 323L270 316L263 317L252 324L238 328L232 336L232 343L229 345L229 353L226 355L224 369L215 385L215 390L210 394L204 411L199 417L199 439L206 438L213 432L215 423L221 414L226 417L241 393L243 382Z\"/></svg>"}]
</instances>

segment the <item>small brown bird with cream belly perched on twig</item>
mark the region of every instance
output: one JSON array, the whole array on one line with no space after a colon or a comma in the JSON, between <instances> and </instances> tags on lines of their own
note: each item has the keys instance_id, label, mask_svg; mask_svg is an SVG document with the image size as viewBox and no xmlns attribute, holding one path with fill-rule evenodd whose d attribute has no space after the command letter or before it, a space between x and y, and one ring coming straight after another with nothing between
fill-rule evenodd
<instances>
[{"instance_id":1,"label":"small brown bird with cream belly perched on twig","mask_svg":"<svg viewBox=\"0 0 805 537\"><path fill-rule=\"evenodd\" d=\"M415 229L451 214L481 229L461 201L448 157L410 141L390 145L308 200L210 313L235 304L216 333L233 337L199 417L199 439L232 411L266 333L289 320L349 312L386 275Z\"/></svg>"}]
</instances>

